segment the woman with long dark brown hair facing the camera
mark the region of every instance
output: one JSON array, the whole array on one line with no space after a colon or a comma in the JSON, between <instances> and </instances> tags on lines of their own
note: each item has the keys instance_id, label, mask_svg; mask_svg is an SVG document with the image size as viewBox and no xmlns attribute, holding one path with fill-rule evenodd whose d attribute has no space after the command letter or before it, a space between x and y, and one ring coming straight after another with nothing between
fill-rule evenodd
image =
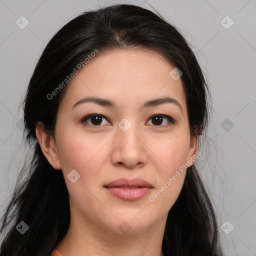
<instances>
[{"instance_id":1,"label":"woman with long dark brown hair facing the camera","mask_svg":"<svg viewBox=\"0 0 256 256\"><path fill-rule=\"evenodd\" d=\"M222 255L194 166L207 91L160 15L121 4L69 21L29 81L33 158L3 216L1 232L15 221L0 256Z\"/></svg>"}]
</instances>

